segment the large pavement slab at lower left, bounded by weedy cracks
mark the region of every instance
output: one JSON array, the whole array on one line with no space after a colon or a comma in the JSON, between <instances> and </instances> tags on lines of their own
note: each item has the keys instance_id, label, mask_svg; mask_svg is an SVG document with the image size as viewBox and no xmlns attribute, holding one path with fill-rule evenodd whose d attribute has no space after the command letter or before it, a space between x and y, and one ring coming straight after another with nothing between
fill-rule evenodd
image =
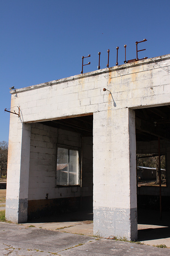
<instances>
[{"instance_id":1,"label":"large pavement slab at lower left, bounded by weedy cracks","mask_svg":"<svg viewBox=\"0 0 170 256\"><path fill-rule=\"evenodd\" d=\"M59 231L28 228L18 224L0 222L0 241L2 244L17 246L18 248L37 249L47 252L59 252L84 244L95 238Z\"/></svg>"}]
</instances>

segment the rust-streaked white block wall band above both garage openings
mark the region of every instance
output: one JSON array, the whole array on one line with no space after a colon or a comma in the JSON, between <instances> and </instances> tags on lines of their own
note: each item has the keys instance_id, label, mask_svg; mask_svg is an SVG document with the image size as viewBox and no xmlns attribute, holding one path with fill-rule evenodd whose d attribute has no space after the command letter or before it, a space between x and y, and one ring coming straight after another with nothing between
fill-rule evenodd
<instances>
[{"instance_id":1,"label":"rust-streaked white block wall band above both garage openings","mask_svg":"<svg viewBox=\"0 0 170 256\"><path fill-rule=\"evenodd\" d=\"M170 55L153 60L168 70ZM23 122L160 106L170 103L169 83L170 73L147 59L18 89L12 106L20 106Z\"/></svg>"}]
</instances>

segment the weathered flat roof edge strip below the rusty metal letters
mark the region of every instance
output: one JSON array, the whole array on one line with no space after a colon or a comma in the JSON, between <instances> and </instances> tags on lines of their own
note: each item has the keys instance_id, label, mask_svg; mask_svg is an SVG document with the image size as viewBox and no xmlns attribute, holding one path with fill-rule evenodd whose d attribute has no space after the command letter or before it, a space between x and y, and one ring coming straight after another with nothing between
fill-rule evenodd
<instances>
[{"instance_id":1,"label":"weathered flat roof edge strip below the rusty metal letters","mask_svg":"<svg viewBox=\"0 0 170 256\"><path fill-rule=\"evenodd\" d=\"M42 84L36 84L36 85L32 85L32 86L23 87L23 88L20 88L20 89L16 89L14 91L10 91L10 93L14 94L16 92L17 93L18 92L25 92L25 91L28 91L28 90L33 90L33 89L37 89L37 88L41 88L41 87L45 87L45 86L52 86L52 85L61 84L61 83L64 83L64 82L69 82L69 81L72 81L72 80L77 80L77 79L86 78L86 77L90 77L90 76L97 76L99 74L109 73L111 71L117 71L117 70L121 70L121 69L132 68L134 66L141 66L141 65L144 65L144 64L152 63L153 61L154 62L159 62L159 61L168 60L168 59L170 59L170 54L166 54L166 55L162 55L162 56L158 56L158 57L154 57L154 58L147 58L146 60L139 60L137 62L131 62L131 63L127 63L127 64L122 64L122 65L119 65L119 66L113 66L111 68L103 68L103 69L100 69L100 70L95 70L95 71L87 72L87 73L84 73L84 74L78 74L78 75L70 76L70 77L67 77L67 78L61 78L59 80L53 80L53 81L45 82L45 83L42 83Z\"/></svg>"}]
</instances>

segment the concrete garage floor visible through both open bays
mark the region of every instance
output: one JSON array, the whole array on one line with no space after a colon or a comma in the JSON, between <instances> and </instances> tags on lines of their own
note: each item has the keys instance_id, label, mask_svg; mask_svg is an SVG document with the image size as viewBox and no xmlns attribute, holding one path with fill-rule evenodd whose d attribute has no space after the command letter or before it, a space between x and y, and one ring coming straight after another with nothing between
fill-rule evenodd
<instances>
[{"instance_id":1,"label":"concrete garage floor visible through both open bays","mask_svg":"<svg viewBox=\"0 0 170 256\"><path fill-rule=\"evenodd\" d=\"M88 214L86 218L84 216L84 220L81 220L82 216L80 215L81 213L73 213L69 214L69 216L64 214L61 219L59 218L58 222L56 222L56 216L39 218L21 225L93 236L92 213ZM66 218L66 216L68 216L68 218ZM67 219L69 221L66 221ZM74 221L75 219L79 221ZM168 226L158 226L153 224L138 224L138 241L148 245L165 244L167 247L170 247L170 228Z\"/></svg>"}]
</instances>

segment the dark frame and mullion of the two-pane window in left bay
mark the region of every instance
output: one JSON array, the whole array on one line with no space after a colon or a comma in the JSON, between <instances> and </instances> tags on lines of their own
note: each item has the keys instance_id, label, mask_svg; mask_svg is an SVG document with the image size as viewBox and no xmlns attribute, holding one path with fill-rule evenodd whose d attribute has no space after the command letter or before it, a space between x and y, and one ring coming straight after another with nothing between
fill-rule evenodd
<instances>
[{"instance_id":1,"label":"dark frame and mullion of the two-pane window in left bay","mask_svg":"<svg viewBox=\"0 0 170 256\"><path fill-rule=\"evenodd\" d=\"M58 148L64 148L68 150L76 150L78 151L78 184L68 184L68 185L61 185L57 184L57 157L58 157ZM81 182L81 149L79 147L74 147L74 146L68 146L68 145L63 145L63 144L57 144L57 152L56 152L56 187L80 187L80 182ZM69 154L68 154L68 176L69 176Z\"/></svg>"}]
</instances>

